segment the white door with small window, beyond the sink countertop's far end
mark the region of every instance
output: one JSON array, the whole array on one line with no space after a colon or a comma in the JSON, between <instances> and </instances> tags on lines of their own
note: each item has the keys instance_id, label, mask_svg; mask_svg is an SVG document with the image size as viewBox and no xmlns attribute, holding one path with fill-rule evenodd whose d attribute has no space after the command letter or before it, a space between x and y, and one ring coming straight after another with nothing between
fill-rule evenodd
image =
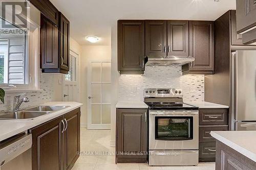
<instances>
[{"instance_id":1,"label":"white door with small window, beyond the sink countertop's far end","mask_svg":"<svg viewBox=\"0 0 256 170\"><path fill-rule=\"evenodd\" d=\"M62 75L62 101L79 102L78 95L78 54L70 51L70 71Z\"/></svg>"}]
</instances>

